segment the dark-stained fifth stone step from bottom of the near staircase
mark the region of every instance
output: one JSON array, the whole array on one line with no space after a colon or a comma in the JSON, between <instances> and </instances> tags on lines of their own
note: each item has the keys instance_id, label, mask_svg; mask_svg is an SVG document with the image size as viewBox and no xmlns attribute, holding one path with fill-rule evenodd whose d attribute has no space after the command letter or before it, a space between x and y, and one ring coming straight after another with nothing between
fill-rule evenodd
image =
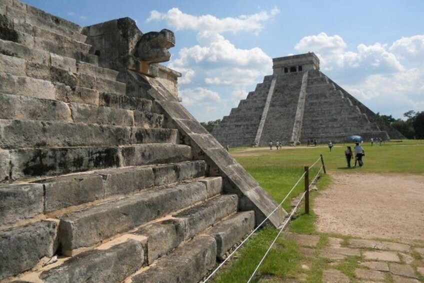
<instances>
[{"instance_id":1,"label":"dark-stained fifth stone step from bottom of the near staircase","mask_svg":"<svg viewBox=\"0 0 424 283\"><path fill-rule=\"evenodd\" d=\"M89 170L165 164L191 160L191 148L180 144L120 147L35 148L0 151L9 179L57 176Z\"/></svg>"}]
</instances>

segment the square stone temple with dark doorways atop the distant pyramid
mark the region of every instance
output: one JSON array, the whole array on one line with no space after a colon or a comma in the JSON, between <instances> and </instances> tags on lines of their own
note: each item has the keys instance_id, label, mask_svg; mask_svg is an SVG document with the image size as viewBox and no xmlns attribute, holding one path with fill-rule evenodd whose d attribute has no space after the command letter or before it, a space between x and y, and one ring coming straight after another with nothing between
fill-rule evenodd
<instances>
[{"instance_id":1,"label":"square stone temple with dark doorways atop the distant pyramid","mask_svg":"<svg viewBox=\"0 0 424 283\"><path fill-rule=\"evenodd\" d=\"M274 58L272 63L274 74L319 70L319 59L313 52Z\"/></svg>"}]
</instances>

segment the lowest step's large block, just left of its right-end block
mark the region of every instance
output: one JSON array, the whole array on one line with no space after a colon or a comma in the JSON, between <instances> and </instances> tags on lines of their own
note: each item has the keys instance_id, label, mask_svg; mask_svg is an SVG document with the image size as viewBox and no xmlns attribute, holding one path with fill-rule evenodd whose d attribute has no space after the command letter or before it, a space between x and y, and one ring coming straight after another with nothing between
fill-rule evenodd
<instances>
[{"instance_id":1,"label":"lowest step's large block, just left of its right-end block","mask_svg":"<svg viewBox=\"0 0 424 283\"><path fill-rule=\"evenodd\" d=\"M200 235L159 258L154 266L131 276L139 282L198 282L216 262L216 243L213 237Z\"/></svg>"}]
</instances>

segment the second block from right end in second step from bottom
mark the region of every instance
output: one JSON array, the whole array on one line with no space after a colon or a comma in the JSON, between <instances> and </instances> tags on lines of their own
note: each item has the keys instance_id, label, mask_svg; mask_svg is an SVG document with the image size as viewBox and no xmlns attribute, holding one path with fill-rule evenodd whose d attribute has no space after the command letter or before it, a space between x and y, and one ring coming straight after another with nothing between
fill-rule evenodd
<instances>
[{"instance_id":1,"label":"second block from right end in second step from bottom","mask_svg":"<svg viewBox=\"0 0 424 283\"><path fill-rule=\"evenodd\" d=\"M158 257L167 254L184 240L183 223L169 219L144 226L134 232L147 237L147 258L151 264Z\"/></svg>"}]
</instances>

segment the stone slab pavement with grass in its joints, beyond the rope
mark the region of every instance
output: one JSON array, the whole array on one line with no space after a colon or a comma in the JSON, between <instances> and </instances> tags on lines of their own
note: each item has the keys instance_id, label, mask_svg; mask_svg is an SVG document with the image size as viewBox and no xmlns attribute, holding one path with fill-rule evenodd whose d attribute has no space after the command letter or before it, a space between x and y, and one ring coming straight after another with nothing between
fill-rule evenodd
<instances>
[{"instance_id":1,"label":"stone slab pavement with grass in its joints, beyond the rope","mask_svg":"<svg viewBox=\"0 0 424 283\"><path fill-rule=\"evenodd\" d=\"M308 274L315 270L322 272L322 282L424 282L422 245L325 234L286 233L285 237L297 242L303 255L303 274L288 281L311 281Z\"/></svg>"}]
</instances>

